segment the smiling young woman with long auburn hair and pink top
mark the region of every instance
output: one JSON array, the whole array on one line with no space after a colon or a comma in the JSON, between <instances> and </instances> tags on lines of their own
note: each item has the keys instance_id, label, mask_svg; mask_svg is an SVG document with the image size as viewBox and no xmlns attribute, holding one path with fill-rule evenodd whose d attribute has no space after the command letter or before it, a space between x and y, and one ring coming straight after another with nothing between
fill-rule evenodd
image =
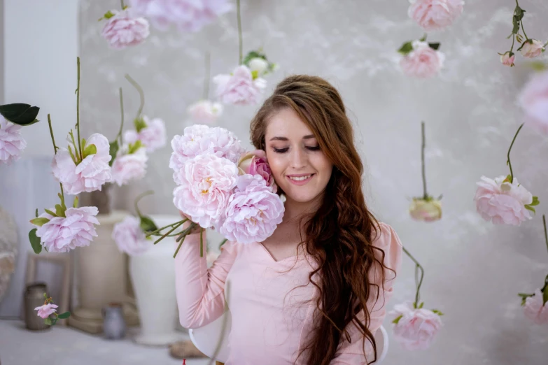
<instances>
[{"instance_id":1,"label":"smiling young woman with long auburn hair and pink top","mask_svg":"<svg viewBox=\"0 0 548 365\"><path fill-rule=\"evenodd\" d=\"M402 244L367 210L341 96L322 78L290 76L251 122L251 141L286 196L283 222L263 242L225 243L209 269L199 234L185 239L175 259L181 325L213 322L226 299L225 365L373 362Z\"/></svg>"}]
</instances>

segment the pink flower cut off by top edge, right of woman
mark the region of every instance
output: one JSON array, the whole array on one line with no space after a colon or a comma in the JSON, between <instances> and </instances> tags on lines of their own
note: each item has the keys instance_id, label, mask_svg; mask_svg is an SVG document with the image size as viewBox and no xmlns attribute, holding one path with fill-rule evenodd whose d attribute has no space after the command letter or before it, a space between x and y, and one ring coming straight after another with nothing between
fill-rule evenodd
<instances>
[{"instance_id":1,"label":"pink flower cut off by top edge, right of woman","mask_svg":"<svg viewBox=\"0 0 548 365\"><path fill-rule=\"evenodd\" d=\"M426 31L440 30L453 24L463 13L463 0L409 0L409 17Z\"/></svg>"}]
</instances>

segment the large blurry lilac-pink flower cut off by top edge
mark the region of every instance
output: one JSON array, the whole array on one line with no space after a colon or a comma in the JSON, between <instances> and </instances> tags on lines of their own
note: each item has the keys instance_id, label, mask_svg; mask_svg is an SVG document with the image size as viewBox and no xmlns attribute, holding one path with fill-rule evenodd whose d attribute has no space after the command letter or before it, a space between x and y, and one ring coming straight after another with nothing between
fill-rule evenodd
<instances>
[{"instance_id":1,"label":"large blurry lilac-pink flower cut off by top edge","mask_svg":"<svg viewBox=\"0 0 548 365\"><path fill-rule=\"evenodd\" d=\"M132 8L160 30L175 24L181 31L199 31L227 13L227 0L130 0Z\"/></svg>"}]
</instances>

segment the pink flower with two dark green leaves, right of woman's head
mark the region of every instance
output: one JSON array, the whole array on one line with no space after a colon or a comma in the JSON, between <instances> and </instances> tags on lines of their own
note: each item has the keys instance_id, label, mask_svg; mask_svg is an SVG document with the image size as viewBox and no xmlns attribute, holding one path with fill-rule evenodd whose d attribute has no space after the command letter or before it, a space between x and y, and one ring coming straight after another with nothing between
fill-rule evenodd
<instances>
[{"instance_id":1,"label":"pink flower with two dark green leaves, right of woman's head","mask_svg":"<svg viewBox=\"0 0 548 365\"><path fill-rule=\"evenodd\" d=\"M413 50L400 60L400 66L407 76L429 78L440 71L444 59L444 54L430 48L428 43L414 41Z\"/></svg>"}]
</instances>

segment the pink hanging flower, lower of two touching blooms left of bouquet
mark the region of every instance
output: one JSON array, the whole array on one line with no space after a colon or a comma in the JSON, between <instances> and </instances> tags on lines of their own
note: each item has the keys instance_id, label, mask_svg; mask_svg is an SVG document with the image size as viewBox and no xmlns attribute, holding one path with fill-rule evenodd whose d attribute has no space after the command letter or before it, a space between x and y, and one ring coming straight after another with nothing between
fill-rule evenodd
<instances>
[{"instance_id":1,"label":"pink hanging flower, lower of two touching blooms left of bouquet","mask_svg":"<svg viewBox=\"0 0 548 365\"><path fill-rule=\"evenodd\" d=\"M112 164L112 181L118 186L140 180L146 175L146 148L141 147L133 153L127 153L127 150L127 146L123 147Z\"/></svg>"}]
</instances>

